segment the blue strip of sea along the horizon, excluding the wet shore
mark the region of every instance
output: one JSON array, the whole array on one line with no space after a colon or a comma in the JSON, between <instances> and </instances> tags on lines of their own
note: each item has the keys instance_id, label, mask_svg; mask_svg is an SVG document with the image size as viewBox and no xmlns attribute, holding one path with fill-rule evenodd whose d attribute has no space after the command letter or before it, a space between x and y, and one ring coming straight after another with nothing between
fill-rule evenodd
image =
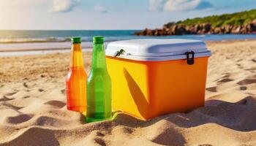
<instances>
[{"instance_id":1,"label":"blue strip of sea along the horizon, excluding the wet shore","mask_svg":"<svg viewBox=\"0 0 256 146\"><path fill-rule=\"evenodd\" d=\"M181 38L200 40L227 40L227 39L254 39L256 34L205 34L205 35L183 35L167 37L140 37L135 36L138 30L113 30L113 31L0 31L0 44L3 43L24 43L24 42L69 42L70 37L82 37L83 42L91 42L94 36L104 36L106 42L124 39L143 38Z\"/></svg>"}]
</instances>

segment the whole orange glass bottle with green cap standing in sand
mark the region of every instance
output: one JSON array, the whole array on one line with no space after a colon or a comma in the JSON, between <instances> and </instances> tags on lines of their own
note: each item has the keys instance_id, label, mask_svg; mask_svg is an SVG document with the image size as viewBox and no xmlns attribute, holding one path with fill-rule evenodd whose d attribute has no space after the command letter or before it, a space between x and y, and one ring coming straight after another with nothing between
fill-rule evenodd
<instances>
[{"instance_id":1,"label":"whole orange glass bottle with green cap standing in sand","mask_svg":"<svg viewBox=\"0 0 256 146\"><path fill-rule=\"evenodd\" d=\"M80 37L72 38L69 73L66 80L67 110L86 111L86 80Z\"/></svg>"}]
</instances>

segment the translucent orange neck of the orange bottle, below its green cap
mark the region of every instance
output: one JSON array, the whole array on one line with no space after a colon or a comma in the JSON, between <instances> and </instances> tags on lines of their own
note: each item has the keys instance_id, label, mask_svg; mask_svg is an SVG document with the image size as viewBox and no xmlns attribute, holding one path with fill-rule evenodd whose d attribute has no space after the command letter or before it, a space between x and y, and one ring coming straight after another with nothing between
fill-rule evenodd
<instances>
[{"instance_id":1,"label":"translucent orange neck of the orange bottle, below its green cap","mask_svg":"<svg viewBox=\"0 0 256 146\"><path fill-rule=\"evenodd\" d=\"M81 44L72 44L70 67L83 67L83 52Z\"/></svg>"}]
</instances>

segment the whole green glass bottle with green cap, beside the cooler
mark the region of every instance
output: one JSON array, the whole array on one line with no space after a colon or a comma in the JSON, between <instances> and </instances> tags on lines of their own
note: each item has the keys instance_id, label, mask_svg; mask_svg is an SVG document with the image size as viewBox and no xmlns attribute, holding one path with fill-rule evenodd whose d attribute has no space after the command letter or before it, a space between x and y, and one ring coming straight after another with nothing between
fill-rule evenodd
<instances>
[{"instance_id":1,"label":"whole green glass bottle with green cap, beside the cooler","mask_svg":"<svg viewBox=\"0 0 256 146\"><path fill-rule=\"evenodd\" d=\"M91 72L87 80L88 123L112 117L111 80L106 66L104 37L94 37L93 42Z\"/></svg>"}]
</instances>

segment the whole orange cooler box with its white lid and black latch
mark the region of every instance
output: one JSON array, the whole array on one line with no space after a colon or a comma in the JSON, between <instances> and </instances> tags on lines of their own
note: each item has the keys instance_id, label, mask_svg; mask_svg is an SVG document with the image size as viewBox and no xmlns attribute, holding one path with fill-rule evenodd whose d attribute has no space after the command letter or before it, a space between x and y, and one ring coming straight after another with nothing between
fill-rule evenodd
<instances>
[{"instance_id":1,"label":"whole orange cooler box with its white lid and black latch","mask_svg":"<svg viewBox=\"0 0 256 146\"><path fill-rule=\"evenodd\" d=\"M204 42L191 39L110 42L113 110L146 120L202 107L210 55Z\"/></svg>"}]
</instances>

